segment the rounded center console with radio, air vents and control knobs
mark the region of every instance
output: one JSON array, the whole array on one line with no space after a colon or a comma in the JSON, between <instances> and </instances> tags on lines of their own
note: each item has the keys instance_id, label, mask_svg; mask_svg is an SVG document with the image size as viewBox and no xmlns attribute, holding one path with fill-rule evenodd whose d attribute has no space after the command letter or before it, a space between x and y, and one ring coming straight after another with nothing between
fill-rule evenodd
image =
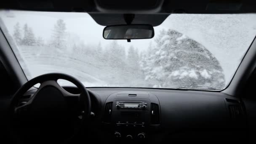
<instances>
[{"instance_id":1,"label":"rounded center console with radio, air vents and control knobs","mask_svg":"<svg viewBox=\"0 0 256 144\"><path fill-rule=\"evenodd\" d=\"M113 93L105 103L104 123L111 126L115 139L145 141L151 128L160 126L157 97L148 92Z\"/></svg>"}]
</instances>

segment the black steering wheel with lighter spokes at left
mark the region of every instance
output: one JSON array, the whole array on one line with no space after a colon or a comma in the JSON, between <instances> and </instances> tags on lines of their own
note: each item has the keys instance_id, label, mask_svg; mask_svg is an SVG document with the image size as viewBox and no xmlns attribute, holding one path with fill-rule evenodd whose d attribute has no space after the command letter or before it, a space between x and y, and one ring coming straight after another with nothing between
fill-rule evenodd
<instances>
[{"instance_id":1,"label":"black steering wheel with lighter spokes at left","mask_svg":"<svg viewBox=\"0 0 256 144\"><path fill-rule=\"evenodd\" d=\"M72 94L64 90L57 83L59 79L75 84L80 94ZM37 83L40 83L40 87L35 94L27 102L21 101L24 93ZM82 114L79 106L84 106ZM74 130L78 115L82 115L82 120L77 126L82 127L91 115L91 99L87 89L75 77L61 73L49 73L35 77L22 85L14 94L10 109L11 120L23 125L21 131L28 133L29 139L32 136L37 140L43 137L53 142L53 138L59 141L67 136L73 136L78 131ZM70 130L73 130L72 134L69 133ZM17 135L19 134L17 132Z\"/></svg>"}]
</instances>

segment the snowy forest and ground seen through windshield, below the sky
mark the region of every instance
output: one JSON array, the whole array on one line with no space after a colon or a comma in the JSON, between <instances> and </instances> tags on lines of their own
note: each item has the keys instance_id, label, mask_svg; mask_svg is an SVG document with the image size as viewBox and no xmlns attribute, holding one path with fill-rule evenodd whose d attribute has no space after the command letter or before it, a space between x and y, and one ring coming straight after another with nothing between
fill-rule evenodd
<instances>
[{"instance_id":1,"label":"snowy forest and ground seen through windshield, below the sky","mask_svg":"<svg viewBox=\"0 0 256 144\"><path fill-rule=\"evenodd\" d=\"M141 52L133 46L125 51L117 40L109 45L72 42L62 19L51 31L51 40L43 40L28 24L14 26L12 37L29 77L65 72L89 87L225 87L223 69L213 54L173 29L163 29Z\"/></svg>"}]
</instances>

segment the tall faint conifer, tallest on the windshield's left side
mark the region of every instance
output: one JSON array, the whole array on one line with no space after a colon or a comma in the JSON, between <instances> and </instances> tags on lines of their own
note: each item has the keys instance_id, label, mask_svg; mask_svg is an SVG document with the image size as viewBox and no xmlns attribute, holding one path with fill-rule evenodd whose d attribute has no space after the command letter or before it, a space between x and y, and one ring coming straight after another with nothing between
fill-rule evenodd
<instances>
[{"instance_id":1,"label":"tall faint conifer, tallest on the windshield's left side","mask_svg":"<svg viewBox=\"0 0 256 144\"><path fill-rule=\"evenodd\" d=\"M64 23L63 19L57 20L56 24L53 28L53 34L52 34L52 42L51 45L53 45L56 48L65 48L65 41L66 41L66 24Z\"/></svg>"}]
</instances>

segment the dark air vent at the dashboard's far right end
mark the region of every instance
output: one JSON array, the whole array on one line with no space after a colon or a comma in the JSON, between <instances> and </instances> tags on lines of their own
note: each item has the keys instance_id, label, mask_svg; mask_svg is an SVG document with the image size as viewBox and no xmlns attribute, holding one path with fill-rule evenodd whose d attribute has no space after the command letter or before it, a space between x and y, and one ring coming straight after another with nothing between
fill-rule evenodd
<instances>
[{"instance_id":1,"label":"dark air vent at the dashboard's far right end","mask_svg":"<svg viewBox=\"0 0 256 144\"><path fill-rule=\"evenodd\" d=\"M239 105L229 105L229 113L232 121L240 121L243 118L242 109Z\"/></svg>"}]
</instances>

